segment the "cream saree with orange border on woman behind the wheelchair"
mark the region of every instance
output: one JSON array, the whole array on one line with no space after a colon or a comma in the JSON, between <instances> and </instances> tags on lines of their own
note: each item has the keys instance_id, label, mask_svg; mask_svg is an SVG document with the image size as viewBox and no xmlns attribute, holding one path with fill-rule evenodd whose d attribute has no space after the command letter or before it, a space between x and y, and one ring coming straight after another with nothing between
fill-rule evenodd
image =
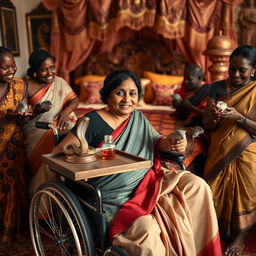
<instances>
[{"instance_id":1,"label":"cream saree with orange border on woman behind the wheelchair","mask_svg":"<svg viewBox=\"0 0 256 256\"><path fill-rule=\"evenodd\" d=\"M37 129L35 122L51 122L57 125L58 114L66 104L76 97L76 94L69 84L61 77L55 76L51 84L40 88L40 90L29 99L29 103L32 106L46 100L52 103L52 108L48 112L38 115L24 126L25 151L33 175L36 174L42 164L40 160L41 155L49 153L54 146L53 132L51 130L45 131ZM76 119L76 115L71 113L69 129L74 126Z\"/></svg>"}]
</instances>

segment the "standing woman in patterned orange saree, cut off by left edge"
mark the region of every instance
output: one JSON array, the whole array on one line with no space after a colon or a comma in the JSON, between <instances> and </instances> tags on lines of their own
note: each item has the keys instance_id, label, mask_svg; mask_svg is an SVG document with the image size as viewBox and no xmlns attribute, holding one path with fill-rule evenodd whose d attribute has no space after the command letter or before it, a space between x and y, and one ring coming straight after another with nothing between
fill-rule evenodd
<instances>
[{"instance_id":1,"label":"standing woman in patterned orange saree, cut off by left edge","mask_svg":"<svg viewBox=\"0 0 256 256\"><path fill-rule=\"evenodd\" d=\"M14 78L16 71L10 50L0 46L0 242L22 238L28 216L22 129L8 114L26 95L23 81Z\"/></svg>"}]
</instances>

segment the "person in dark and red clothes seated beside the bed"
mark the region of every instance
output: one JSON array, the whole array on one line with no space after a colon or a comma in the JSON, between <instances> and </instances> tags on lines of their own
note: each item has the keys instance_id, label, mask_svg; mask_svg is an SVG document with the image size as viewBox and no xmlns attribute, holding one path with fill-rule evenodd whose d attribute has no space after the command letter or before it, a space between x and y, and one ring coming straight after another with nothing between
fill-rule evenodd
<instances>
[{"instance_id":1,"label":"person in dark and red clothes seated beside the bed","mask_svg":"<svg viewBox=\"0 0 256 256\"><path fill-rule=\"evenodd\" d=\"M203 71L197 64L189 64L185 68L184 82L177 94L173 95L173 106L178 119L186 120L194 116L193 125L201 124L205 100L210 88L203 84Z\"/></svg>"}]
</instances>

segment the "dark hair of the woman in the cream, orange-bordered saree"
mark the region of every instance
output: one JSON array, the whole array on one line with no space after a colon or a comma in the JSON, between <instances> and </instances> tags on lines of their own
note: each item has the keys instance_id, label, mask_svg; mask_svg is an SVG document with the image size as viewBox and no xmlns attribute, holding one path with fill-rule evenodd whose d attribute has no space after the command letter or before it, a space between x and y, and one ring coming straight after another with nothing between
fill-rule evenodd
<instances>
[{"instance_id":1,"label":"dark hair of the woman in the cream, orange-bordered saree","mask_svg":"<svg viewBox=\"0 0 256 256\"><path fill-rule=\"evenodd\" d=\"M54 62L56 61L55 57L44 49L37 49L32 52L28 60L29 68L27 70L27 74L33 78L33 74L38 70L41 63L49 58L51 58Z\"/></svg>"}]
</instances>

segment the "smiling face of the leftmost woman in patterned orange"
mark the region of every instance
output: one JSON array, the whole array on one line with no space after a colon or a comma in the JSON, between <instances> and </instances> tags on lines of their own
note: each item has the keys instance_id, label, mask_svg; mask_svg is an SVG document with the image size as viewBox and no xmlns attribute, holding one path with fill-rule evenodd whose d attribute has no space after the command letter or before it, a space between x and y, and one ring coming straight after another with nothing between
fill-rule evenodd
<instances>
[{"instance_id":1,"label":"smiling face of the leftmost woman in patterned orange","mask_svg":"<svg viewBox=\"0 0 256 256\"><path fill-rule=\"evenodd\" d=\"M14 57L10 53L3 53L0 56L0 83L12 82L17 71Z\"/></svg>"}]
</instances>

